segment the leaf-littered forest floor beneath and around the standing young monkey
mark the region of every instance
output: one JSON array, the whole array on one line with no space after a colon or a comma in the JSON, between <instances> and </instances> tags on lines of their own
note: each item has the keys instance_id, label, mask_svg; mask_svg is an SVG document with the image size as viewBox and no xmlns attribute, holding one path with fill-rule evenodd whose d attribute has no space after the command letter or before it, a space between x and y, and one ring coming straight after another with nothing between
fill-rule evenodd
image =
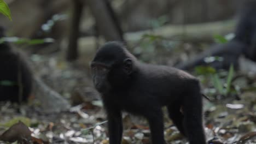
<instances>
[{"instance_id":1,"label":"leaf-littered forest floor beneath and around the standing young monkey","mask_svg":"<svg viewBox=\"0 0 256 144\"><path fill-rule=\"evenodd\" d=\"M138 55L139 58L154 64L173 65L201 51L195 50L194 47L197 45L192 44L182 44L183 49L175 50L159 50L146 43L143 46L149 49L135 47L132 52L146 53ZM2 140L10 140L10 136L20 136L24 143L108 143L106 115L100 95L92 87L90 79L88 57L91 57L91 53L80 53L80 56L82 58L74 63L64 61L61 52L30 56L34 73L73 106L69 111L46 114L40 109L40 101L33 95L27 104L1 103ZM232 91L225 93L230 71L205 74L202 73L203 70L199 68L190 72L199 77L202 92L213 100L203 98L207 141L227 144L256 143L255 77L250 73L235 71L230 86ZM219 78L212 79L216 76ZM217 81L217 85L214 85L213 81ZM179 134L172 121L168 119L166 109L163 110L167 143L186 143L185 137ZM150 143L150 131L144 118L124 113L123 122L123 144ZM26 129L28 127L29 129ZM10 129L7 131L9 137L4 135L7 129ZM32 137L26 133L32 133Z\"/></svg>"}]
</instances>

